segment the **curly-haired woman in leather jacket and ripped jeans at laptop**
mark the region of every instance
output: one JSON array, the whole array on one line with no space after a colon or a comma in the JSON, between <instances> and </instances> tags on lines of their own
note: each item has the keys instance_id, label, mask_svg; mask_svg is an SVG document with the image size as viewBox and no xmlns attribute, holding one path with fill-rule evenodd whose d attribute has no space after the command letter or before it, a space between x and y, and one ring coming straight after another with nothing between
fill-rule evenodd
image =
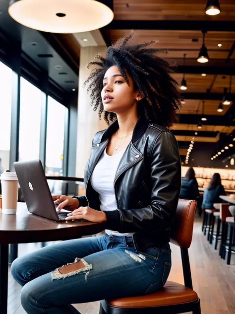
<instances>
[{"instance_id":1,"label":"curly-haired woman in leather jacket and ripped jeans at laptop","mask_svg":"<svg viewBox=\"0 0 235 314\"><path fill-rule=\"evenodd\" d=\"M131 37L91 63L98 68L88 90L110 126L93 138L86 196L54 196L59 210L71 211L68 221L106 222L106 235L63 241L13 262L28 314L79 313L70 304L152 293L169 275L181 164L167 127L179 95L169 64L148 47L154 42L131 45Z\"/></svg>"}]
</instances>

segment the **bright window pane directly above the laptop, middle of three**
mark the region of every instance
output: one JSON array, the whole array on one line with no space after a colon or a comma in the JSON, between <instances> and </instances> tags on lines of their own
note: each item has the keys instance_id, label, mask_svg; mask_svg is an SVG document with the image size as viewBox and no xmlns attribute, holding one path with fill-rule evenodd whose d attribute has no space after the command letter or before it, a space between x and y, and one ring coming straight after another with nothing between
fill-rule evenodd
<instances>
[{"instance_id":1,"label":"bright window pane directly above the laptop, middle of three","mask_svg":"<svg viewBox=\"0 0 235 314\"><path fill-rule=\"evenodd\" d=\"M20 79L19 160L39 158L42 91Z\"/></svg>"}]
</instances>

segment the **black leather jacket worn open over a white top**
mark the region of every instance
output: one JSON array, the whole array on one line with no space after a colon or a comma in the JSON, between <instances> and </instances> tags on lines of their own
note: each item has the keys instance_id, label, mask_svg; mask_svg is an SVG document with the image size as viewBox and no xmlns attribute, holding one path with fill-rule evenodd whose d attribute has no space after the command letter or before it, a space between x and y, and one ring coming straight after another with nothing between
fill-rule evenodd
<instances>
[{"instance_id":1,"label":"black leather jacket worn open over a white top","mask_svg":"<svg viewBox=\"0 0 235 314\"><path fill-rule=\"evenodd\" d=\"M76 196L80 206L100 210L99 194L90 177L109 139L117 131L114 122L95 134L84 174L86 196ZM140 117L117 168L114 191L117 210L106 211L106 229L135 233L136 250L170 241L181 185L181 163L174 135Z\"/></svg>"}]
</instances>

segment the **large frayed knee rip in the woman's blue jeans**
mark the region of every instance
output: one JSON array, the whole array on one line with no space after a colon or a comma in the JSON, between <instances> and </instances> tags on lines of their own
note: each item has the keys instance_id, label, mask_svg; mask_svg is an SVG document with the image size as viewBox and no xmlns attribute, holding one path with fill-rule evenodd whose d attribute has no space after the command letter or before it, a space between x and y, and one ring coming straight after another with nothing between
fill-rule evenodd
<instances>
[{"instance_id":1,"label":"large frayed knee rip in the woman's blue jeans","mask_svg":"<svg viewBox=\"0 0 235 314\"><path fill-rule=\"evenodd\" d=\"M77 275L79 273L85 273L85 281L92 269L92 264L88 264L83 258L75 258L73 263L67 263L52 272L52 281L65 279L70 276Z\"/></svg>"}]
</instances>

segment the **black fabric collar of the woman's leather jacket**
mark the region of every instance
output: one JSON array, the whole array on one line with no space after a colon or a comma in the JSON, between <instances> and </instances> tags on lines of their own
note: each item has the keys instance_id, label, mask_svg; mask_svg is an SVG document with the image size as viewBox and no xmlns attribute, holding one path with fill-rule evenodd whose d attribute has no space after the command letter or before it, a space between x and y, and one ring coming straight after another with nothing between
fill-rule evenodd
<instances>
[{"instance_id":1,"label":"black fabric collar of the woman's leather jacket","mask_svg":"<svg viewBox=\"0 0 235 314\"><path fill-rule=\"evenodd\" d=\"M147 121L145 116L143 114L140 115L133 130L133 135L131 139L132 143L135 143L144 135L145 131L148 128L148 124L149 122ZM100 143L106 141L107 139L110 139L112 135L118 130L118 128L119 128L119 125L118 125L118 121L116 120L105 130L105 132L103 133L101 137Z\"/></svg>"}]
</instances>

